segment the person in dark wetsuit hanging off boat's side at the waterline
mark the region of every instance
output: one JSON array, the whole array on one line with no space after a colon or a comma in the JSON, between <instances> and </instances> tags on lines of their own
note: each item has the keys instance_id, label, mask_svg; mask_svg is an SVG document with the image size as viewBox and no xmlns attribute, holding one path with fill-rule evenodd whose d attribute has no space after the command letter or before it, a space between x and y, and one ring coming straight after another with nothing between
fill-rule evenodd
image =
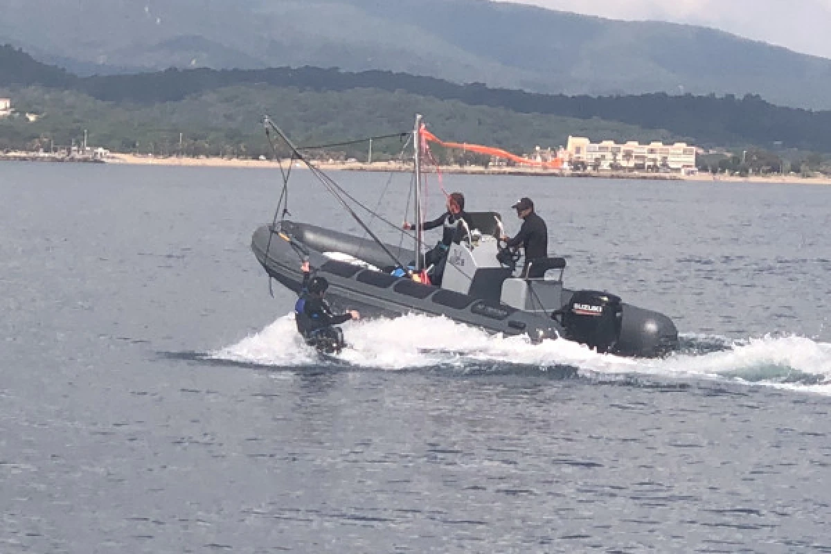
<instances>
[{"instance_id":1,"label":"person in dark wetsuit hanging off boat's side at the waterline","mask_svg":"<svg viewBox=\"0 0 831 554\"><path fill-rule=\"evenodd\" d=\"M329 287L326 277L312 276L307 261L302 262L300 268L303 272L302 292L294 305L297 331L308 345L329 353L339 352L344 344L343 331L336 326L349 320L358 320L361 315L354 310L335 315L324 299Z\"/></svg>"}]
</instances>

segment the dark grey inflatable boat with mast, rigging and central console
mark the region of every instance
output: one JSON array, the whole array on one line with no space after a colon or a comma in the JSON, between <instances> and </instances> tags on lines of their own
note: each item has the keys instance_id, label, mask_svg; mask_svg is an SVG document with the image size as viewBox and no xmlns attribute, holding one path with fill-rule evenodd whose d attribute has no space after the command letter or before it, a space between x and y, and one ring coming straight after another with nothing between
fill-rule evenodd
<instances>
[{"instance_id":1,"label":"dark grey inflatable boat with mast, rigging and central console","mask_svg":"<svg viewBox=\"0 0 831 554\"><path fill-rule=\"evenodd\" d=\"M678 332L669 317L622 302L611 292L565 287L563 274L567 264L562 257L533 260L518 275L517 252L501 246L504 233L499 214L495 212L468 212L470 223L465 224L464 233L456 233L448 248L440 287L426 283L420 278L425 269L420 226L416 226L412 249L382 243L355 209L366 210L374 220L396 228L399 233L403 233L401 228L359 203L318 169L304 154L311 148L298 149L268 118L265 125L269 142L272 131L283 139L292 160L306 165L367 237L286 219L291 170L283 171L283 194L273 223L253 233L251 248L268 276L293 292L301 291L301 263L308 261L329 282L327 299L332 306L360 311L361 316L396 317L409 313L446 316L503 336L527 335L532 341L576 341L616 355L654 357L677 349ZM385 136L399 135L407 134ZM414 146L413 215L417 222L424 221L420 211L423 204L420 164L425 156L432 159L425 139L428 136L431 135L418 116L411 140L407 142ZM500 152L496 150L494 154L491 150L488 154ZM274 154L278 158L276 148Z\"/></svg>"}]
</instances>

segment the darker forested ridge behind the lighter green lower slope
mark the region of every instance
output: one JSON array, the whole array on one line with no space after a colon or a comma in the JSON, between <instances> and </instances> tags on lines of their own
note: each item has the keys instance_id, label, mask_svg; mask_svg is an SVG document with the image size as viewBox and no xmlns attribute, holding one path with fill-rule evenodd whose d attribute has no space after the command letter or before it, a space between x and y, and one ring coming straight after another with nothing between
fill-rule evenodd
<instances>
[{"instance_id":1,"label":"darker forested ridge behind the lighter green lower slope","mask_svg":"<svg viewBox=\"0 0 831 554\"><path fill-rule=\"evenodd\" d=\"M378 118L403 122L410 120L419 109L423 109L425 115L435 120L435 117L430 117L435 116L430 110L444 114L445 108L452 103L459 113L446 115L446 118L457 123L466 118L470 119L476 108L499 110L500 114L513 114L516 118L514 124L491 136L484 132L485 128L489 128L490 122L487 117L483 120L484 112L479 111L476 117L481 129L472 130L475 136L461 133L460 125L447 125L443 131L450 134L450 138L490 143L498 140L500 142L497 145L518 147L520 150L541 144L562 145L571 133L597 139L657 140L659 136L671 136L709 147L739 148L755 145L777 150L831 152L831 135L827 132L831 127L831 111L814 112L779 107L763 101L758 96L739 99L732 96L668 96L663 93L598 98L542 95L491 89L481 85L462 86L449 81L388 71L345 73L315 67L252 71L168 70L137 75L79 78L57 67L45 66L32 60L24 52L9 47L0 47L0 86L46 86L51 89L75 91L90 100L105 101L129 110L152 110L155 109L154 106L165 105L165 110L170 111L171 119L178 114L176 110L180 109L181 102L204 97L216 99L220 92L229 88L255 89L259 96L279 96L291 90L297 99L303 99L300 105L303 110L309 112L305 120L307 130L321 125L324 129L332 130L335 128L333 125L342 125L352 116L344 113L345 107L337 106L335 99L338 94L353 100L361 98L362 95L369 109L376 105L376 102L377 105L391 106L383 99L407 94L411 97L413 105L397 104L400 112L379 111L375 115L359 110L365 115L366 121L354 121L343 129L361 129L367 134L373 134L378 131L379 125L370 125L369 122ZM322 98L322 93L327 93L327 101L322 105L314 105L311 99ZM315 96L316 94L318 96ZM32 102L30 101L29 107L37 113L50 109L47 104ZM231 119L242 118L248 120L249 125L255 125L253 119L264 113L279 114L281 118L288 118L293 117L293 110L299 109L297 105L289 104L266 110L261 104L262 101L258 100L252 101L250 105L243 102L213 105L210 108L206 107L202 117L207 122L216 120L221 114ZM420 105L424 107L419 108ZM428 106L430 110L427 109ZM568 133L565 133L565 127L559 124L551 133L543 135L529 135L526 130L520 128L520 120L526 121L522 125L528 125L529 118L546 120L548 116L553 116L554 120L573 120L566 125ZM228 123L227 120L220 121L223 125ZM581 123L577 125L574 122ZM189 121L189 125L202 128L204 122L200 123L194 119ZM534 125L532 127L536 128ZM219 129L222 129L222 125L219 125ZM604 133L599 134L597 130L604 130ZM632 135L627 137L622 130L627 130ZM240 131L248 132L242 127ZM456 135L457 133L459 135ZM549 140L554 140L554 137L557 137L556 142L552 144ZM326 137L322 139L328 140Z\"/></svg>"}]
</instances>

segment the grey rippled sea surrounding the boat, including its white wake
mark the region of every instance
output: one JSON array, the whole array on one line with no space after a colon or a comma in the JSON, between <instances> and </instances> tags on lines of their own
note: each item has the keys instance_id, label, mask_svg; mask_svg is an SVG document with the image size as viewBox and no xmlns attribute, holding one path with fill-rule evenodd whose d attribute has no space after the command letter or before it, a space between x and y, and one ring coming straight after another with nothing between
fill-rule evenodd
<instances>
[{"instance_id":1,"label":"grey rippled sea surrounding the boat, including its white wake","mask_svg":"<svg viewBox=\"0 0 831 554\"><path fill-rule=\"evenodd\" d=\"M333 176L411 220L408 176ZM280 184L0 167L0 552L831 551L831 188L431 176L509 233L534 199L567 285L682 351L406 316L320 360L249 249ZM307 172L288 208L362 233Z\"/></svg>"}]
</instances>

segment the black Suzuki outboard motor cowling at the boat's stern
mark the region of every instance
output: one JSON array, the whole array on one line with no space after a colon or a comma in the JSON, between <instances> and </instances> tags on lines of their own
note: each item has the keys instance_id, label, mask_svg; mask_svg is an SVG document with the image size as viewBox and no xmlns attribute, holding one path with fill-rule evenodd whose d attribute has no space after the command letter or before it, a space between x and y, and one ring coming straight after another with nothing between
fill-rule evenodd
<instances>
[{"instance_id":1,"label":"black Suzuki outboard motor cowling at the boat's stern","mask_svg":"<svg viewBox=\"0 0 831 554\"><path fill-rule=\"evenodd\" d=\"M614 351L621 336L621 299L607 292L577 291L563 308L566 339L598 352Z\"/></svg>"}]
</instances>

